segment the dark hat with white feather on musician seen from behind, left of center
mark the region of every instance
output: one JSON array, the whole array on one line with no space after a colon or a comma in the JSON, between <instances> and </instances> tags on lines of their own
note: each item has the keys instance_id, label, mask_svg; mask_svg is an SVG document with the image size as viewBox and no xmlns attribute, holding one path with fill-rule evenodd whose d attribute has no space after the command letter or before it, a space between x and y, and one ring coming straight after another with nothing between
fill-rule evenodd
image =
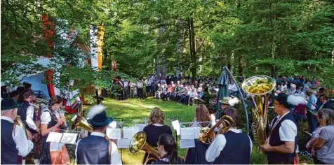
<instances>
[{"instance_id":1,"label":"dark hat with white feather on musician seen from behind, left of center","mask_svg":"<svg viewBox=\"0 0 334 165\"><path fill-rule=\"evenodd\" d=\"M89 110L89 124L95 126L105 126L112 123L112 117L107 117L107 113L105 113L105 106L96 105Z\"/></svg>"}]
</instances>

